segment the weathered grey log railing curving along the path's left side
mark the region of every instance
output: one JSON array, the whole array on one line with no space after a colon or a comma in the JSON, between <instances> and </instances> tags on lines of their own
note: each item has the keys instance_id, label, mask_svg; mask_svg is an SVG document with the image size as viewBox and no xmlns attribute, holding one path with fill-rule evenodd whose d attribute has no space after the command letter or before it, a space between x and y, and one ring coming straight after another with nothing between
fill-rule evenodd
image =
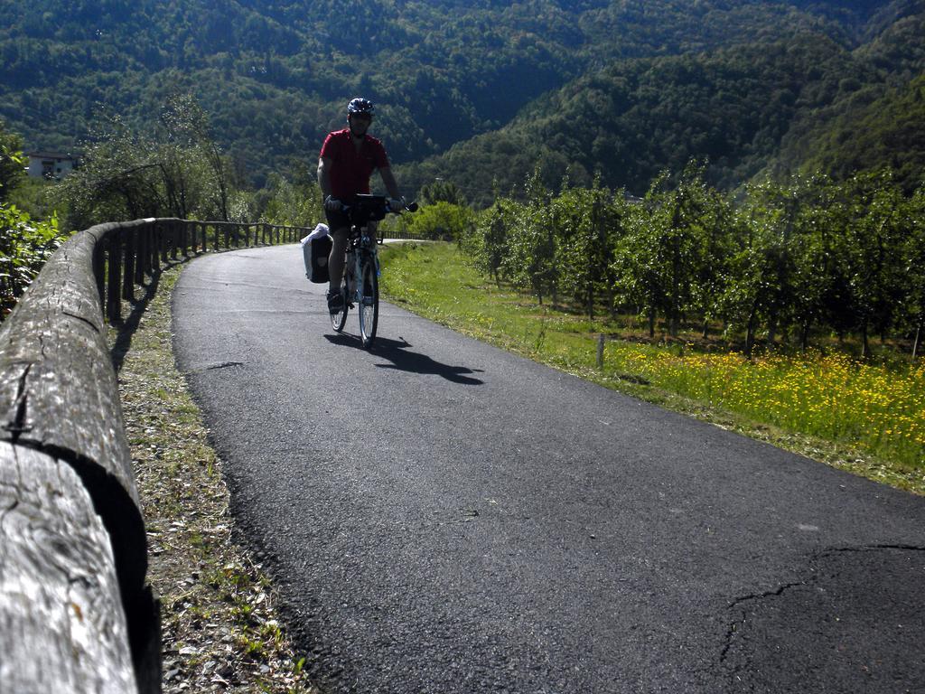
<instances>
[{"instance_id":1,"label":"weathered grey log railing curving along the path's left side","mask_svg":"<svg viewBox=\"0 0 925 694\"><path fill-rule=\"evenodd\" d=\"M81 231L0 329L0 691L159 692L159 606L105 316L163 262L308 229L142 219Z\"/></svg>"}]
</instances>

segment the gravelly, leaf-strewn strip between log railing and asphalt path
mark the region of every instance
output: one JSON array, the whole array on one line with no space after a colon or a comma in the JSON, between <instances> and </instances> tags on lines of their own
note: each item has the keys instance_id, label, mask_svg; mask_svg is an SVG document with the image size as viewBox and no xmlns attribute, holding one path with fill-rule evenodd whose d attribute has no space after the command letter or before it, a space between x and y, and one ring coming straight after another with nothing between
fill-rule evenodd
<instances>
[{"instance_id":1,"label":"gravelly, leaf-strewn strip between log railing and asphalt path","mask_svg":"<svg viewBox=\"0 0 925 694\"><path fill-rule=\"evenodd\" d=\"M170 303L181 270L166 268L110 331L161 601L164 691L317 694L262 565L235 541L222 461L174 363Z\"/></svg>"}]
</instances>

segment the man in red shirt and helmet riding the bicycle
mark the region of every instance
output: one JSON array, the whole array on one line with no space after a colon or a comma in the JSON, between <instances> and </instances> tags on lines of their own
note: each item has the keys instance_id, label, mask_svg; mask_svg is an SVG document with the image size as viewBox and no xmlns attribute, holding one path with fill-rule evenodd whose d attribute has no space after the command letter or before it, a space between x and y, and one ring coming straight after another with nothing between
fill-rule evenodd
<instances>
[{"instance_id":1,"label":"man in red shirt and helmet riding the bicycle","mask_svg":"<svg viewBox=\"0 0 925 694\"><path fill-rule=\"evenodd\" d=\"M376 106L369 99L356 97L347 105L347 125L344 130L329 132L321 145L318 159L318 185L325 200L327 226L331 229L334 244L327 259L330 286L327 291L327 310L337 313L343 307L340 295L340 278L344 271L344 254L350 233L350 218L343 205L350 205L358 193L369 192L369 178L373 171L379 176L392 198L389 205L401 209L404 200L398 183L388 165L388 156L382 143L369 135L370 123ZM375 237L376 227L371 223L370 235Z\"/></svg>"}]
</instances>

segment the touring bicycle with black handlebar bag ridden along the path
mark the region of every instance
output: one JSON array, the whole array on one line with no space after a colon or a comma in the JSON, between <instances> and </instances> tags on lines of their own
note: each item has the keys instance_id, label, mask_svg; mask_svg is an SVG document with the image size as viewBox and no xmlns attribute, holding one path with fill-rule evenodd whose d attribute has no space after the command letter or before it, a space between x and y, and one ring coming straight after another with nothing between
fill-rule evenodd
<instances>
[{"instance_id":1,"label":"touring bicycle with black handlebar bag ridden along the path","mask_svg":"<svg viewBox=\"0 0 925 694\"><path fill-rule=\"evenodd\" d=\"M337 332L343 330L347 313L355 302L359 306L360 341L364 348L369 349L376 340L379 322L379 256L376 243L366 235L366 231L369 222L384 219L388 213L414 212L417 204L406 204L404 209L393 210L388 198L361 194L356 196L353 204L345 204L342 209L350 217L351 229L347 238L347 262L340 280L343 302L340 310L330 315L331 327Z\"/></svg>"}]
</instances>

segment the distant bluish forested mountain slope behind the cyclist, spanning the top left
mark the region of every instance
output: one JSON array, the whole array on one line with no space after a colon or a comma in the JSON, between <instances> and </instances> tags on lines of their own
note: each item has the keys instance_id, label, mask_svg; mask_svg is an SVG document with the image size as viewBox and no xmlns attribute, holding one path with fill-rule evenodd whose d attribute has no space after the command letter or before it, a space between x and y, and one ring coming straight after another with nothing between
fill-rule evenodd
<instances>
[{"instance_id":1,"label":"distant bluish forested mountain slope behind the cyclist, spanning the top left","mask_svg":"<svg viewBox=\"0 0 925 694\"><path fill-rule=\"evenodd\" d=\"M622 58L819 32L852 46L883 2L6 0L0 117L72 149L97 105L141 125L192 91L254 182L313 159L346 100L382 105L396 162L445 152Z\"/></svg>"}]
</instances>

